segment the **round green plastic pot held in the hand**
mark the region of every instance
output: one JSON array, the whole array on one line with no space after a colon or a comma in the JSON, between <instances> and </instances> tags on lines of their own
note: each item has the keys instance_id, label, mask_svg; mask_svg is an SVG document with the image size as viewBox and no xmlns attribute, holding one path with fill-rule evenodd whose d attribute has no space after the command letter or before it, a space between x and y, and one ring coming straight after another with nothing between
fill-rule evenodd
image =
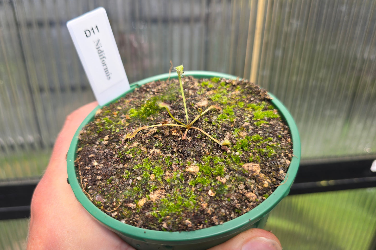
<instances>
[{"instance_id":1,"label":"round green plastic pot held in the hand","mask_svg":"<svg viewBox=\"0 0 376 250\"><path fill-rule=\"evenodd\" d=\"M186 75L191 75L196 78L211 78L211 77L224 77L227 79L236 79L236 76L222 74L218 72L209 71L190 71L186 72ZM166 80L169 77L168 74L156 75L149 77L141 81L137 81L131 84L131 89L123 95L115 98L116 101L120 97L123 97L127 93L133 92L136 87L156 80ZM171 74L171 78L177 78L177 74ZM78 136L80 130L92 119L96 111L103 107L98 106L85 118L82 122L76 134L71 142L68 155L67 155L67 168L68 179L74 195L82 206L100 223L108 227L108 229L117 233L124 241L136 249L207 249L215 245L221 244L224 241L232 238L233 236L241 233L250 228L262 228L265 226L270 211L277 206L277 204L285 197L290 191L290 187L293 184L296 173L299 167L300 160L300 138L293 120L293 117L288 112L287 108L273 95L271 95L271 102L282 114L283 119L290 127L291 137L293 140L293 154L294 157L291 160L288 168L288 178L285 179L284 184L276 188L276 190L261 204L253 208L251 211L243 214L233 220L227 221L221 225L212 226L205 229L198 229L189 232L163 232L149 229L142 229L139 227L130 226L122 223L111 216L102 212L97 208L86 195L83 193L79 182L77 180L76 170L74 167L74 159L76 158L76 149L78 143ZM106 104L105 104L106 105Z\"/></svg>"}]
</instances>

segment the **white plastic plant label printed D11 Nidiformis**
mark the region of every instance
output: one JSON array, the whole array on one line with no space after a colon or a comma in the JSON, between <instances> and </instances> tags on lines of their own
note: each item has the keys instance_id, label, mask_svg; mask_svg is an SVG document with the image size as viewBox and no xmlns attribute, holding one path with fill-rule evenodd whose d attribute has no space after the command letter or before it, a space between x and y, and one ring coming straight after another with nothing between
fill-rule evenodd
<instances>
[{"instance_id":1,"label":"white plastic plant label printed D11 Nidiformis","mask_svg":"<svg viewBox=\"0 0 376 250\"><path fill-rule=\"evenodd\" d=\"M87 12L68 21L67 27L99 105L129 90L106 10Z\"/></svg>"}]
</instances>

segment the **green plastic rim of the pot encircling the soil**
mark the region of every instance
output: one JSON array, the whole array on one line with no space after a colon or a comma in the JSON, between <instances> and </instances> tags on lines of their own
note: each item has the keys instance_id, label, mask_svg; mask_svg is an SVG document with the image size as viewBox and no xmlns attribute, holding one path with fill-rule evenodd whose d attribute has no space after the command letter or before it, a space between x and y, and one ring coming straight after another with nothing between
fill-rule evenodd
<instances>
[{"instance_id":1,"label":"green plastic rim of the pot encircling the soil","mask_svg":"<svg viewBox=\"0 0 376 250\"><path fill-rule=\"evenodd\" d=\"M211 78L211 77L223 77L227 79L241 79L234 75L229 74L223 74L219 72L212 72L212 71L186 71L185 75L193 76L195 78ZM120 99L121 97L125 96L126 94L133 92L133 90L136 87L139 87L143 84L149 83L151 81L156 80L166 80L168 77L170 78L177 78L177 74L171 73L169 75L161 74L156 75L153 77L145 78L140 81L136 81L135 83L132 83L130 85L130 90L123 93L122 95L118 96L117 98L113 99L111 102L116 101L117 99ZM85 120L81 123L80 127L77 129L76 133L74 134L74 137L72 139L72 142L70 144L70 148L67 154L67 170L68 170L68 179L69 183L71 185L71 188L74 192L74 195L76 196L77 200L82 204L82 206L88 211L94 218L96 218L100 223L104 224L105 226L109 227L112 230L115 230L123 235L126 235L130 238L139 239L142 241L169 241L169 242L180 242L180 241L187 241L187 240L193 240L193 241L204 241L205 238L212 237L215 235L218 236L224 236L228 233L233 232L234 230L241 230L242 227L246 227L250 222L255 223L256 221L259 221L261 218L263 218L265 215L267 215L279 202L282 200L290 191L290 187L293 184L293 181L295 179L298 167L299 167L299 161L300 161L300 137L299 132L297 130L296 123L294 122L293 117L288 112L287 108L280 102L274 95L270 94L270 97L272 98L270 101L273 103L273 105L277 108L277 110L282 114L282 119L287 123L288 127L290 128L291 132L291 138L293 141L293 158L291 159L290 166L287 171L287 178L285 178L283 184L278 186L276 190L262 203L260 203L258 206L250 210L249 212L246 212L245 214L234 218L232 220L229 220L221 225L217 226L211 226L204 229L197 229L194 231L183 231L183 232L165 232L165 231L156 231L156 230L150 230L150 229L143 229L140 227L131 226L129 224L122 223L121 221L116 220L115 218L112 218L111 216L105 214L105 212L101 211L99 208L97 208L89 199L86 197L86 195L83 193L79 181L76 176L76 170L74 167L74 160L76 159L76 148L78 143L78 136L80 130L89 122L92 120L94 115L96 114L96 111L99 108L102 108L105 105L108 105L111 102L106 103L105 105L98 105L94 110L91 111L91 113L86 116Z\"/></svg>"}]
</instances>

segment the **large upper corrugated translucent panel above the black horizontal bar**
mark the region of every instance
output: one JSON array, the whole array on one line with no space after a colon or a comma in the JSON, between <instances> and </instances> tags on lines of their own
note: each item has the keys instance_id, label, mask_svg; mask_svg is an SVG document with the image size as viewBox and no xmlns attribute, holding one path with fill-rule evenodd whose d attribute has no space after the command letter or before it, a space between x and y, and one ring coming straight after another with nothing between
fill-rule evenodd
<instances>
[{"instance_id":1,"label":"large upper corrugated translucent panel above the black horizontal bar","mask_svg":"<svg viewBox=\"0 0 376 250\"><path fill-rule=\"evenodd\" d=\"M65 116L94 99L65 26L108 12L130 82L186 70L249 78L280 98L302 157L376 152L376 13L362 1L0 1L0 144L50 149Z\"/></svg>"}]
</instances>

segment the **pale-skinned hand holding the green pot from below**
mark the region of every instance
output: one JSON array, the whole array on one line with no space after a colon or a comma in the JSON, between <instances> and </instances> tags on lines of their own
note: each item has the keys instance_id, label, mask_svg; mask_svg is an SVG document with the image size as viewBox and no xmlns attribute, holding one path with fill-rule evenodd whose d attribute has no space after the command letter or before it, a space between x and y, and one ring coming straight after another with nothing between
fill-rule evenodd
<instances>
[{"instance_id":1,"label":"pale-skinned hand holding the green pot from below","mask_svg":"<svg viewBox=\"0 0 376 250\"><path fill-rule=\"evenodd\" d=\"M83 119L98 105L91 102L65 120L56 139L47 170L31 202L27 249L122 249L134 248L94 220L74 197L67 183L65 155ZM211 250L280 250L273 233L249 229Z\"/></svg>"}]
</instances>

